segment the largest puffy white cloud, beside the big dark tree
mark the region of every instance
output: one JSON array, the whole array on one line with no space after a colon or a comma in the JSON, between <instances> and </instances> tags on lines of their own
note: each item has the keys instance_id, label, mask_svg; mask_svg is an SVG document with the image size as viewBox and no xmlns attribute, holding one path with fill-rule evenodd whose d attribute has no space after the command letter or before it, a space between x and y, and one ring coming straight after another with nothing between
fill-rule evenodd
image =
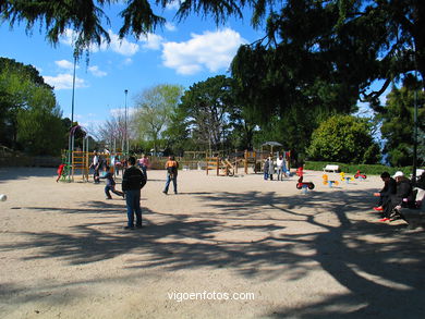
<instances>
[{"instance_id":1,"label":"largest puffy white cloud, beside the big dark tree","mask_svg":"<svg viewBox=\"0 0 425 319\"><path fill-rule=\"evenodd\" d=\"M163 65L187 75L205 68L217 72L229 68L239 47L246 44L239 33L230 28L191 36L192 39L185 42L163 44Z\"/></svg>"}]
</instances>

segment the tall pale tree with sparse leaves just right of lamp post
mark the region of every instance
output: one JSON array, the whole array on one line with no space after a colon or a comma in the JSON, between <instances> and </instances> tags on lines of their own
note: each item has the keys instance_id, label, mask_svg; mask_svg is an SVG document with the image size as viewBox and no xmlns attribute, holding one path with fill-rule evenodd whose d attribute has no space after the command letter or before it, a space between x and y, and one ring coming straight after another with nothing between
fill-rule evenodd
<instances>
[{"instance_id":1,"label":"tall pale tree with sparse leaves just right of lamp post","mask_svg":"<svg viewBox=\"0 0 425 319\"><path fill-rule=\"evenodd\" d=\"M180 85L160 84L143 90L135 98L135 132L138 138L154 143L155 152L158 150L158 142L171 123L171 115L182 94L183 87Z\"/></svg>"}]
</instances>

